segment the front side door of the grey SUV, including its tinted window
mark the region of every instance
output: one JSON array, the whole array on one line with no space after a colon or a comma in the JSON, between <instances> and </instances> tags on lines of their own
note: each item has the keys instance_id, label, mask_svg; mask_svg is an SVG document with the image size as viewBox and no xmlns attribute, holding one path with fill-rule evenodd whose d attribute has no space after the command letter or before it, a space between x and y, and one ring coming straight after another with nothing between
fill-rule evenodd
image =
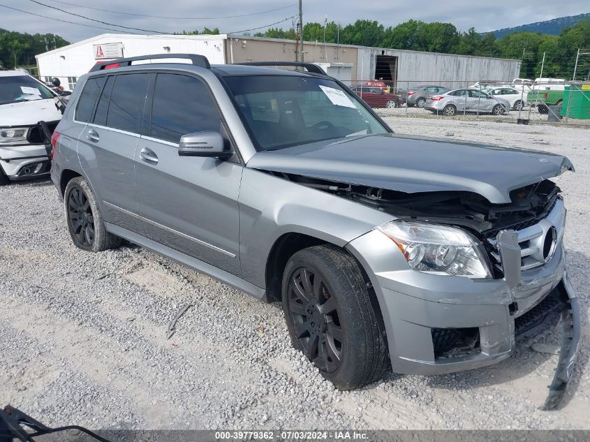
<instances>
[{"instance_id":1,"label":"front side door of the grey SUV, including its tinted window","mask_svg":"<svg viewBox=\"0 0 590 442\"><path fill-rule=\"evenodd\" d=\"M209 88L199 78L158 73L152 110L135 152L139 214L145 235L205 263L241 274L237 158L179 156L182 135L216 131L230 145Z\"/></svg>"}]
</instances>

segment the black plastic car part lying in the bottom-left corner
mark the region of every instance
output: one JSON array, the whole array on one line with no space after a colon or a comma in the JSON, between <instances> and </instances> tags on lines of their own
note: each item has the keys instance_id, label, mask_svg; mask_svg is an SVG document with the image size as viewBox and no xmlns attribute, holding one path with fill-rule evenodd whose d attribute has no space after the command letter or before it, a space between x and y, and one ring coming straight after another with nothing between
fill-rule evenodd
<instances>
[{"instance_id":1,"label":"black plastic car part lying in the bottom-left corner","mask_svg":"<svg viewBox=\"0 0 590 442\"><path fill-rule=\"evenodd\" d=\"M34 430L34 432L27 432L24 427ZM91 438L101 442L111 442L98 434L91 432L89 429L79 427L78 425L68 425L66 427L50 428L43 425L38 420L31 418L31 416L23 413L18 408L7 405L0 411L0 442L12 442L13 439L18 439L22 442L35 442L33 439L36 436L43 436L44 434L51 434L57 432L66 432L68 430L78 430L79 432L88 434Z\"/></svg>"}]
</instances>

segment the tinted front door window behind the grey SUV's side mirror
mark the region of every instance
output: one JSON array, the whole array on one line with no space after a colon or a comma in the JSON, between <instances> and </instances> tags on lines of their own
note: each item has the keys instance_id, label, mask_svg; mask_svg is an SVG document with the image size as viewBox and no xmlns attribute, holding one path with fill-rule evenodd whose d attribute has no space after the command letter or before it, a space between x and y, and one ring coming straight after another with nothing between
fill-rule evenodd
<instances>
[{"instance_id":1,"label":"tinted front door window behind the grey SUV's side mirror","mask_svg":"<svg viewBox=\"0 0 590 442\"><path fill-rule=\"evenodd\" d=\"M187 133L220 130L221 115L205 84L186 75L158 74L149 132L152 137L179 142Z\"/></svg>"}]
</instances>

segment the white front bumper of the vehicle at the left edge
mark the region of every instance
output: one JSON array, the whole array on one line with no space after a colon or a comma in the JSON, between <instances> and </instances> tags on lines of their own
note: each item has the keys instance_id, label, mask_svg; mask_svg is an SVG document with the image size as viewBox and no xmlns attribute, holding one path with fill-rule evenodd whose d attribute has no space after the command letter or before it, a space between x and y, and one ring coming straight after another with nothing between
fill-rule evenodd
<instances>
[{"instance_id":1,"label":"white front bumper of the vehicle at the left edge","mask_svg":"<svg viewBox=\"0 0 590 442\"><path fill-rule=\"evenodd\" d=\"M11 180L49 175L45 145L0 146L0 167Z\"/></svg>"}]
</instances>

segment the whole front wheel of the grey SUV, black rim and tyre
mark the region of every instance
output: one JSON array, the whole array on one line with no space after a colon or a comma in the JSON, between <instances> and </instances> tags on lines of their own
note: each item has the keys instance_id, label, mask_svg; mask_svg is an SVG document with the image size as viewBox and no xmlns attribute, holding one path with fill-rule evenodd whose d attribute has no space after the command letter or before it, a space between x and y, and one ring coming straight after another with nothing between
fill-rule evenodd
<instances>
[{"instance_id":1,"label":"whole front wheel of the grey SUV, black rim and tyre","mask_svg":"<svg viewBox=\"0 0 590 442\"><path fill-rule=\"evenodd\" d=\"M298 251L285 267L282 293L293 346L336 388L354 390L383 376L383 322L352 256L330 245Z\"/></svg>"}]
</instances>

